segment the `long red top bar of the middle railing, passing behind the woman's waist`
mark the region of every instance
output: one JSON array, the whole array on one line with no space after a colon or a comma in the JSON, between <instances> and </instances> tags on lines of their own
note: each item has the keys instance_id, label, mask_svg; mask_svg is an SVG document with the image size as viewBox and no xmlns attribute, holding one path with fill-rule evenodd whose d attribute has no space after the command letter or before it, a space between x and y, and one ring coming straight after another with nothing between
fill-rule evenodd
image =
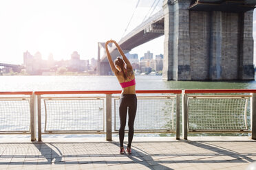
<instances>
[{"instance_id":1,"label":"long red top bar of the middle railing, passing behind the woman's waist","mask_svg":"<svg viewBox=\"0 0 256 170\"><path fill-rule=\"evenodd\" d=\"M88 90L88 91L35 91L35 95L67 95L67 94L118 94L121 90ZM174 93L181 94L182 90L136 90L136 93Z\"/></svg>"}]
</instances>

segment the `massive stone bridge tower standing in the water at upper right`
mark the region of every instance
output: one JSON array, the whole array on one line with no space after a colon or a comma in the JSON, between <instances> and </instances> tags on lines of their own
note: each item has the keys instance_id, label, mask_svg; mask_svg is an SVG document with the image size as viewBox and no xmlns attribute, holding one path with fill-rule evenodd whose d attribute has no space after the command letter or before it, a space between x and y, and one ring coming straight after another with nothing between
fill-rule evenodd
<instances>
[{"instance_id":1,"label":"massive stone bridge tower standing in the water at upper right","mask_svg":"<svg viewBox=\"0 0 256 170\"><path fill-rule=\"evenodd\" d=\"M254 80L253 10L211 7L164 0L164 80Z\"/></svg>"}]
</instances>

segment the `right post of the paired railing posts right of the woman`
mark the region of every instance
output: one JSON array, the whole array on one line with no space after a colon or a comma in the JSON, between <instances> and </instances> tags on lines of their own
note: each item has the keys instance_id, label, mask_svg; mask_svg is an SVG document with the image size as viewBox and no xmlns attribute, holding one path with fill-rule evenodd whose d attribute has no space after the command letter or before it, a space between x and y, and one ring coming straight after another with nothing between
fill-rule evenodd
<instances>
[{"instance_id":1,"label":"right post of the paired railing posts right of the woman","mask_svg":"<svg viewBox=\"0 0 256 170\"><path fill-rule=\"evenodd\" d=\"M184 94L184 91L182 91L182 93ZM183 102L182 102L182 134L183 134L183 138L185 140L188 139L188 116L187 116L187 103L188 103L188 95L184 94L183 98Z\"/></svg>"}]
</instances>

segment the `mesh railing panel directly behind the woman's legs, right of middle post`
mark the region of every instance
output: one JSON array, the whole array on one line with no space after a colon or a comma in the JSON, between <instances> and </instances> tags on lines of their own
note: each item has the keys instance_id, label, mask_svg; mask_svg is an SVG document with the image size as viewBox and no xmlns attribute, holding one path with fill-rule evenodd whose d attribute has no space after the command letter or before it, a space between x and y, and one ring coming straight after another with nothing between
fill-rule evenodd
<instances>
[{"instance_id":1,"label":"mesh railing panel directly behind the woman's legs, right of middle post","mask_svg":"<svg viewBox=\"0 0 256 170\"><path fill-rule=\"evenodd\" d=\"M119 99L114 98L114 132L118 132L120 127ZM134 132L175 132L176 95L138 96L137 99ZM126 121L128 125L128 119Z\"/></svg>"}]
</instances>

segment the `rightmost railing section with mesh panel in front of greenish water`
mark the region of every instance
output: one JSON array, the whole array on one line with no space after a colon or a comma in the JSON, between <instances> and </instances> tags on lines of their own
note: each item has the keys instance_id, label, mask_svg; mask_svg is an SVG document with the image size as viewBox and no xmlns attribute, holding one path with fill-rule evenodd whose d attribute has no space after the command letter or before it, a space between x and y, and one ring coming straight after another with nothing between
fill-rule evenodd
<instances>
[{"instance_id":1,"label":"rightmost railing section with mesh panel in front of greenish water","mask_svg":"<svg viewBox=\"0 0 256 170\"><path fill-rule=\"evenodd\" d=\"M234 93L235 95L223 95L225 93ZM249 93L249 95L237 95L238 93ZM251 132L252 138L256 139L255 97L256 90L248 89L184 90L182 103L183 138L187 139L188 132ZM247 124L249 99L251 130L248 130ZM205 117L205 115L207 116Z\"/></svg>"}]
</instances>

